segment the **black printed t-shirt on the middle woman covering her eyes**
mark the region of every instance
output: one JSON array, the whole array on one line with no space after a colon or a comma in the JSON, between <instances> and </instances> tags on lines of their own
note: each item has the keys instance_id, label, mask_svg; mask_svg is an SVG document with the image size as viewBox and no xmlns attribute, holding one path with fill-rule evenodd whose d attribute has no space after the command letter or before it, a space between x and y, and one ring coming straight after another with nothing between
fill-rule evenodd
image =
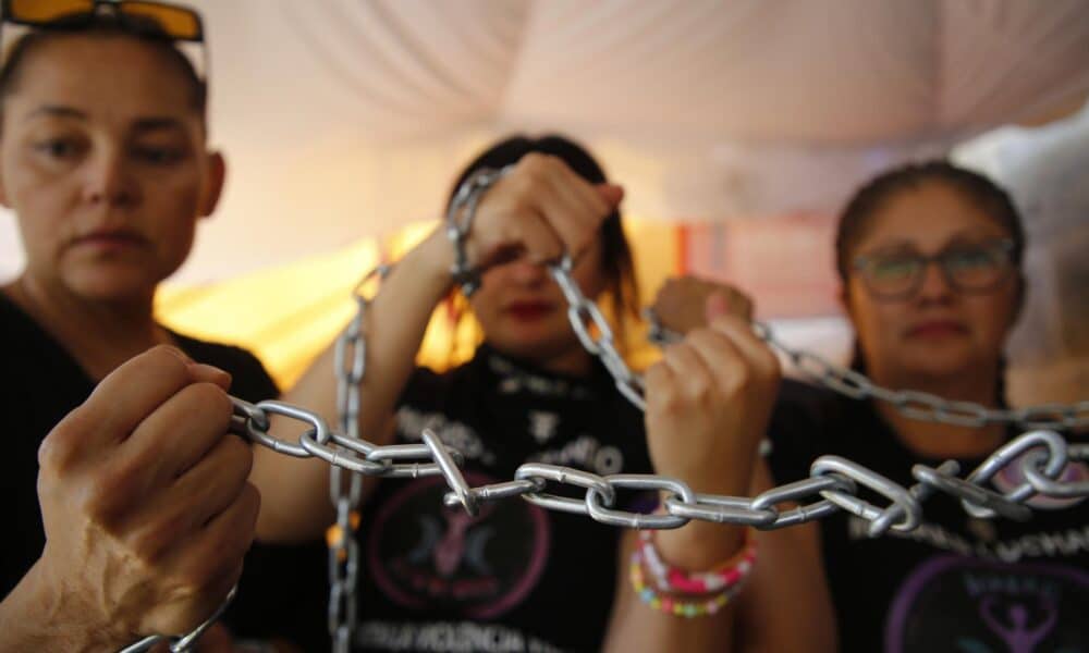
<instances>
[{"instance_id":1,"label":"black printed t-shirt on the middle woman covering her eyes","mask_svg":"<svg viewBox=\"0 0 1089 653\"><path fill-rule=\"evenodd\" d=\"M448 373L418 369L399 442L419 442L426 426L465 454L474 486L512 480L527 461L650 471L643 415L597 365L587 379L564 378L482 346ZM443 508L444 491L441 478L383 481L365 506L355 650L600 649L620 529L519 498L469 517Z\"/></svg>"}]
</instances>

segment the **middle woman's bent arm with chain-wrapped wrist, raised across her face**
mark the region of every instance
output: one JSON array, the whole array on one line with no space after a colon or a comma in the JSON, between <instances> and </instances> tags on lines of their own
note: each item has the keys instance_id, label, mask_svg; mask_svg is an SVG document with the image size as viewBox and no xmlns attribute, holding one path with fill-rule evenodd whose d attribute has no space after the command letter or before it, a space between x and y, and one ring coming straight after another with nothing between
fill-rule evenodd
<instances>
[{"instance_id":1,"label":"middle woman's bent arm with chain-wrapped wrist, raised across her face","mask_svg":"<svg viewBox=\"0 0 1089 653\"><path fill-rule=\"evenodd\" d=\"M559 159L527 155L481 198L466 244L468 258L486 270L517 257L542 262L558 258L564 249L577 255L592 242L622 194L615 186L595 188ZM440 226L397 263L368 310L359 432L376 444L392 441L397 398L415 369L431 311L450 291L453 260L453 248ZM332 347L284 398L337 423ZM298 429L273 422L272 434L294 442ZM332 522L325 461L256 447L252 480L265 505L259 539L313 539ZM376 482L365 480L364 500Z\"/></svg>"}]
</instances>

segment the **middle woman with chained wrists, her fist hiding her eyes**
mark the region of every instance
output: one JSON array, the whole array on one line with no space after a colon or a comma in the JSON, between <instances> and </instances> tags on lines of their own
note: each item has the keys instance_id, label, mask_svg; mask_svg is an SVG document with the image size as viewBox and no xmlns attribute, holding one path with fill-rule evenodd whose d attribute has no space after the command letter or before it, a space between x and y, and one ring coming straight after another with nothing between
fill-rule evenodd
<instances>
[{"instance_id":1,"label":"middle woman with chained wrists, her fist hiding her eyes","mask_svg":"<svg viewBox=\"0 0 1089 653\"><path fill-rule=\"evenodd\" d=\"M464 454L473 486L511 481L521 465L539 461L597 475L653 470L696 492L750 492L778 382L774 356L729 307L712 306L711 325L648 371L640 414L580 344L547 268L571 252L572 276L586 297L610 297L622 320L634 312L633 266L616 209L622 189L585 150L555 136L495 144L455 189L485 169L506 167L480 196L465 248L481 272L468 305L482 343L450 371L416 367L428 318L455 285L454 248L440 227L393 267L367 309L363 436L419 443L429 427ZM327 355L289 399L333 420L333 371ZM257 451L254 469L265 502L259 538L305 538L333 519L327 464ZM448 491L441 477L367 480L353 650L731 649L737 632L727 600L751 567L743 529L694 521L640 538L516 497L485 501L469 515L443 507ZM632 504L620 493L613 508ZM656 582L662 565L683 570L675 584ZM787 601L805 605L806 597L803 591ZM821 614L819 606L812 613ZM787 613L778 616L784 620L767 630L763 650L791 641L819 650L806 617L786 628Z\"/></svg>"}]
</instances>

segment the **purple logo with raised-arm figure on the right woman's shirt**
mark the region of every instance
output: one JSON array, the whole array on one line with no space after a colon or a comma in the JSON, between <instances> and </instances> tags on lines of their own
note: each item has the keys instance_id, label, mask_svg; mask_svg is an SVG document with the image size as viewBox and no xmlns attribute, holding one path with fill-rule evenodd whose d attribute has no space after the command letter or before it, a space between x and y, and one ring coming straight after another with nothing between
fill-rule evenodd
<instances>
[{"instance_id":1,"label":"purple logo with raised-arm figure on the right woman's shirt","mask_svg":"<svg viewBox=\"0 0 1089 653\"><path fill-rule=\"evenodd\" d=\"M1081 569L935 556L916 567L897 590L884 650L1084 651L1087 604L1089 574Z\"/></svg>"}]
</instances>

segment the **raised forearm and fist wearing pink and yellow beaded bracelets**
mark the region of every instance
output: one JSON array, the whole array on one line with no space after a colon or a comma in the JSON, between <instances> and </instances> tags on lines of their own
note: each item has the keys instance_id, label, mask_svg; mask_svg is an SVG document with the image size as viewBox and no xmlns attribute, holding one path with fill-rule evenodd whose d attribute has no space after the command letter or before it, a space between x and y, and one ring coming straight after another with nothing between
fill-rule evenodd
<instances>
[{"instance_id":1,"label":"raised forearm and fist wearing pink and yellow beaded bracelets","mask_svg":"<svg viewBox=\"0 0 1089 653\"><path fill-rule=\"evenodd\" d=\"M729 306L721 299L714 297L706 305L712 318L709 328L689 332L648 370L647 441L659 473L683 480L697 493L736 496L747 494L751 486L757 447L779 383L779 365L746 320L726 315ZM666 564L707 570L741 552L745 531L692 521L654 537ZM625 567L634 538L633 533L624 538L621 564ZM608 648L727 651L737 627L735 613L732 601L715 614L696 618L665 614L645 604L627 574L622 574Z\"/></svg>"}]
</instances>

